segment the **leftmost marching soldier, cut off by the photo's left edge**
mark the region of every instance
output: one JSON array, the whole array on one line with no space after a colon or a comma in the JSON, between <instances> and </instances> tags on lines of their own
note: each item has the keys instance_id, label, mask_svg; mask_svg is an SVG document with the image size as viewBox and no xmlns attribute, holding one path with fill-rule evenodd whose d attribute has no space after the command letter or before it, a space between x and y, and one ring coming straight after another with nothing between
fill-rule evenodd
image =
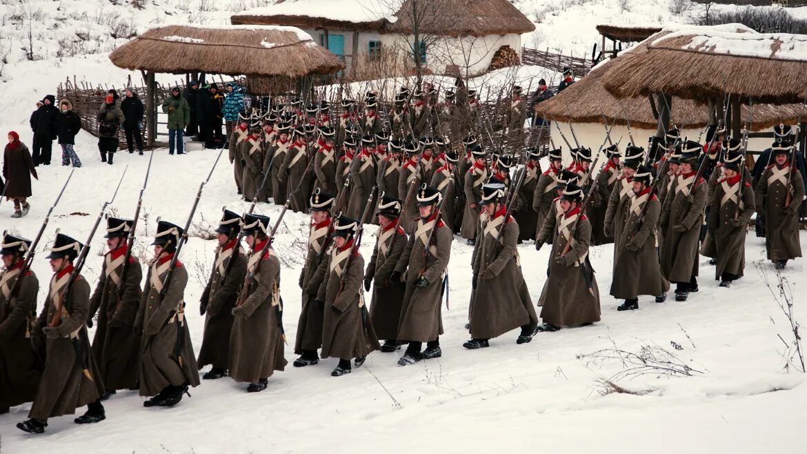
<instances>
[{"instance_id":1,"label":"leftmost marching soldier, cut off by the photo's left edge","mask_svg":"<svg viewBox=\"0 0 807 454\"><path fill-rule=\"evenodd\" d=\"M19 276L30 247L30 241L7 233L0 245L5 268L0 275L0 414L33 401L40 383L41 373L29 340L40 283L33 271ZM12 295L19 279L19 289Z\"/></svg>"}]
</instances>

